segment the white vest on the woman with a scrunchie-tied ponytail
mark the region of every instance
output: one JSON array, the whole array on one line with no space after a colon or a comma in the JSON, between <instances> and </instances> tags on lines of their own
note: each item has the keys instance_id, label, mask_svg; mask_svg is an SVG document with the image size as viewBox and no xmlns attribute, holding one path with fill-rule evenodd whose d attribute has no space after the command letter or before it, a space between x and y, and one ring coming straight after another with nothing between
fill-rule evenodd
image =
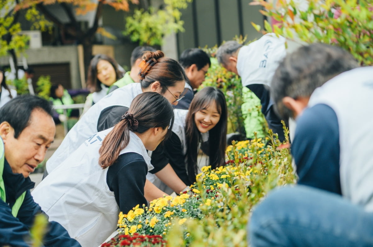
<instances>
[{"instance_id":1,"label":"white vest on the woman with a scrunchie-tied ponytail","mask_svg":"<svg viewBox=\"0 0 373 247\"><path fill-rule=\"evenodd\" d=\"M108 168L98 165L98 150L112 129L91 136L32 191L49 221L60 223L82 247L99 246L117 228L119 206L106 183ZM129 152L142 155L153 169L144 144L131 131L120 154Z\"/></svg>"}]
</instances>

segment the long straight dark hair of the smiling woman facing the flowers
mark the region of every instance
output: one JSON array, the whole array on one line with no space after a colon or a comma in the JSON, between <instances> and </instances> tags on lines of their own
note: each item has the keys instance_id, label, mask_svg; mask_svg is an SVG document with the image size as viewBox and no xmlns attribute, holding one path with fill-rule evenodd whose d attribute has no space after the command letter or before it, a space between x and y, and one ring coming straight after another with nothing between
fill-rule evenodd
<instances>
[{"instance_id":1,"label":"long straight dark hair of the smiling woman facing the flowers","mask_svg":"<svg viewBox=\"0 0 373 247\"><path fill-rule=\"evenodd\" d=\"M209 165L211 169L225 163L226 134L227 134L227 104L222 91L213 87L206 87L199 91L193 98L185 119L186 137L186 170L188 177L194 183L198 171L197 155L198 144L201 142L201 133L195 125L194 115L206 109L210 104L216 104L220 114L219 122L209 130Z\"/></svg>"}]
</instances>

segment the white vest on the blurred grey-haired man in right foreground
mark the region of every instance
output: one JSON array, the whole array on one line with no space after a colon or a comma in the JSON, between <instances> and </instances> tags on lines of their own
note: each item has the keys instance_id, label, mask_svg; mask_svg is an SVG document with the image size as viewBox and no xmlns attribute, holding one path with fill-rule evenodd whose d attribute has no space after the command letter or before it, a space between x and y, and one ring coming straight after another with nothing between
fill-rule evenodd
<instances>
[{"instance_id":1,"label":"white vest on the blurred grey-haired man in right foreground","mask_svg":"<svg viewBox=\"0 0 373 247\"><path fill-rule=\"evenodd\" d=\"M317 88L308 106L326 104L338 118L342 195L373 211L373 67L344 72ZM328 165L328 164L325 164Z\"/></svg>"}]
</instances>

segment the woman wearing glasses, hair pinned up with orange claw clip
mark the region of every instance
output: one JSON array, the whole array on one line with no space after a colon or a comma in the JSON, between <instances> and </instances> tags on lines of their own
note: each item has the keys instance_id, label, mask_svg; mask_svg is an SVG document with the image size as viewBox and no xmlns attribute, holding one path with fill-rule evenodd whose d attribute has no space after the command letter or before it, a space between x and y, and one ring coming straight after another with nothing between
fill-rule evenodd
<instances>
[{"instance_id":1,"label":"woman wearing glasses, hair pinned up with orange claw clip","mask_svg":"<svg viewBox=\"0 0 373 247\"><path fill-rule=\"evenodd\" d=\"M116 89L94 104L81 117L65 136L59 148L48 159L45 175L65 161L90 136L118 123L120 117L128 111L135 96L142 92L157 92L173 105L178 104L178 100L184 93L186 76L184 69L176 60L164 57L162 51L149 51L144 54L140 67L140 83L131 83ZM162 165L162 171L155 167L152 172L156 173L162 181L167 180L166 184L169 184L175 191L185 189L186 185L177 177L172 168L165 165L167 164ZM151 183L146 185L153 187ZM154 190L154 194L147 194L148 191L150 190L145 189L145 197L148 200L156 199L164 194L160 190Z\"/></svg>"}]
</instances>

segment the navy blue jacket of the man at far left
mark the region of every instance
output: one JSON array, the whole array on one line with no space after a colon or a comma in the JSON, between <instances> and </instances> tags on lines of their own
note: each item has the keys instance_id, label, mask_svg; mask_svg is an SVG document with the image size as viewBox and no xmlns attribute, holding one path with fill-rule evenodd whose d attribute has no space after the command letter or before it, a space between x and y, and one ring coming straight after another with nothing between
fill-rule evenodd
<instances>
[{"instance_id":1,"label":"navy blue jacket of the man at far left","mask_svg":"<svg viewBox=\"0 0 373 247\"><path fill-rule=\"evenodd\" d=\"M35 183L22 174L14 174L8 162L4 160L3 180L6 191L6 202L0 199L0 246L31 245L30 228L34 224L35 215L44 213L40 206L34 202L30 189ZM26 191L25 199L18 211L17 217L12 215L12 206L16 198ZM48 232L44 236L43 244L46 247L79 247L80 244L69 237L68 232L59 223L48 223Z\"/></svg>"}]
</instances>

